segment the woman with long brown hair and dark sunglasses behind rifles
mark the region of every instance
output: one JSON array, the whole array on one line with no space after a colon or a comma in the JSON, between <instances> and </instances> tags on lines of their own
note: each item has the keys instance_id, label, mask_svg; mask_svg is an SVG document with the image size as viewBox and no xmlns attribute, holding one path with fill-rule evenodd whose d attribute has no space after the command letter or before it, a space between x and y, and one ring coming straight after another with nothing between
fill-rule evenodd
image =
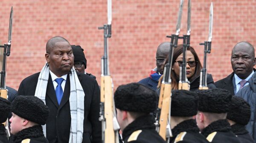
<instances>
[{"instance_id":1,"label":"woman with long brown hair and dark sunglasses behind rifles","mask_svg":"<svg viewBox=\"0 0 256 143\"><path fill-rule=\"evenodd\" d=\"M165 62L168 61L168 57ZM179 83L179 75L180 75L180 66L182 64L183 58L183 44L174 48L173 51L173 60L172 60L172 72L171 72L171 79L172 79L172 89L178 89ZM190 82L190 90L197 90L200 84L200 72L202 69L201 62L198 58L197 53L195 52L194 48L189 47L187 48L186 53L186 76L188 81ZM163 64L164 66L165 64ZM162 77L163 78L163 77ZM161 79L162 79L161 78ZM160 87L161 79L159 80L158 87ZM207 86L209 88L216 88L213 84L213 79L211 74L207 74Z\"/></svg>"}]
</instances>

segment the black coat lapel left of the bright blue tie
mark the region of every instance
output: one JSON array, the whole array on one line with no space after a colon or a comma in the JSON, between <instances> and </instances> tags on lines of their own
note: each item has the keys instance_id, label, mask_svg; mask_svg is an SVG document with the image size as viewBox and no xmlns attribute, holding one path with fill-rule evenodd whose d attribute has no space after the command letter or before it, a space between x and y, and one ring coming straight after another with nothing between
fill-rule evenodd
<instances>
[{"instance_id":1,"label":"black coat lapel left of the bright blue tie","mask_svg":"<svg viewBox=\"0 0 256 143\"><path fill-rule=\"evenodd\" d=\"M54 90L54 86L53 86L53 83L52 83L52 77L51 77L50 74L49 74L49 79L48 79L48 84L47 84L46 95L50 98L50 100L55 105L55 107L58 108L58 101L57 101L57 98L56 98L56 93L55 93L55 90Z\"/></svg>"}]
</instances>

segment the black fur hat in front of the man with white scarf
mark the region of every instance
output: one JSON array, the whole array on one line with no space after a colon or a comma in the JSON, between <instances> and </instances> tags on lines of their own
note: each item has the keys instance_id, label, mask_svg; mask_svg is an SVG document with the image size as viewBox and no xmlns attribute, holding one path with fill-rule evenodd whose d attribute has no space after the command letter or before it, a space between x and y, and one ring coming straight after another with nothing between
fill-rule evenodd
<instances>
[{"instance_id":1,"label":"black fur hat in front of the man with white scarf","mask_svg":"<svg viewBox=\"0 0 256 143\"><path fill-rule=\"evenodd\" d=\"M12 101L12 112L26 120L44 125L49 109L41 99L35 96L17 96Z\"/></svg>"}]
</instances>

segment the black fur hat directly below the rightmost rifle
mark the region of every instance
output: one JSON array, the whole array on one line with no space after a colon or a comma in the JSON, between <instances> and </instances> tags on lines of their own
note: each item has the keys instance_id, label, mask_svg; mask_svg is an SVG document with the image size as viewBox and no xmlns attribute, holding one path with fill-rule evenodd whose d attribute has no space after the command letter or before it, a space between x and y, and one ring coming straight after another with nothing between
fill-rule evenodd
<instances>
[{"instance_id":1,"label":"black fur hat directly below the rightmost rifle","mask_svg":"<svg viewBox=\"0 0 256 143\"><path fill-rule=\"evenodd\" d=\"M210 113L228 112L232 95L224 89L198 90L198 111Z\"/></svg>"}]
</instances>

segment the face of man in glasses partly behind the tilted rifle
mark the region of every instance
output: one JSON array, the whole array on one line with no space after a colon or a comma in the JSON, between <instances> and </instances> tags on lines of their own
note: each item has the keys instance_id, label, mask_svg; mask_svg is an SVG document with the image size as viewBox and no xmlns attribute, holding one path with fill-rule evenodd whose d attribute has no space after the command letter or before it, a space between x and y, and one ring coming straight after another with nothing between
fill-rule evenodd
<instances>
[{"instance_id":1,"label":"face of man in glasses partly behind the tilted rifle","mask_svg":"<svg viewBox=\"0 0 256 143\"><path fill-rule=\"evenodd\" d=\"M169 53L169 50L160 49L156 54L156 65L157 65L157 69L160 74L163 74L164 66L162 66L162 65L165 63L168 53Z\"/></svg>"}]
</instances>

